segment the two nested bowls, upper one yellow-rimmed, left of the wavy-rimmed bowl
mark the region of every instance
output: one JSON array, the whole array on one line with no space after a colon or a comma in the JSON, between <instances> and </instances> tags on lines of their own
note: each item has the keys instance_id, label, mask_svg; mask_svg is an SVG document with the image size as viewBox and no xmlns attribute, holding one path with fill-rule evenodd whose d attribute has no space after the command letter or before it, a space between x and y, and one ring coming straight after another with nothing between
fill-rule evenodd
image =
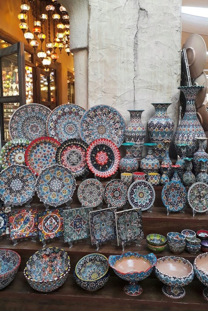
<instances>
[{"instance_id":1,"label":"two nested bowls, upper one yellow-rimmed, left of the wavy-rimmed bowl","mask_svg":"<svg viewBox=\"0 0 208 311\"><path fill-rule=\"evenodd\" d=\"M83 289L95 291L103 287L110 276L108 259L102 254L89 254L81 258L75 267L74 278Z\"/></svg>"}]
</instances>

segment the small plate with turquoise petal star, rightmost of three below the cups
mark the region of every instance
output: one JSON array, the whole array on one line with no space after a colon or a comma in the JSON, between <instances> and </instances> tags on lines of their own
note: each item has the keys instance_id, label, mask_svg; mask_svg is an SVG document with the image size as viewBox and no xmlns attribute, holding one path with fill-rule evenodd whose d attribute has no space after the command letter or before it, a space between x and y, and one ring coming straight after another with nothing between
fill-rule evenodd
<instances>
[{"instance_id":1,"label":"small plate with turquoise petal star, rightmost of three below the cups","mask_svg":"<svg viewBox=\"0 0 208 311\"><path fill-rule=\"evenodd\" d=\"M128 202L133 208L148 210L155 201L155 190L146 180L136 180L128 189Z\"/></svg>"}]
</instances>

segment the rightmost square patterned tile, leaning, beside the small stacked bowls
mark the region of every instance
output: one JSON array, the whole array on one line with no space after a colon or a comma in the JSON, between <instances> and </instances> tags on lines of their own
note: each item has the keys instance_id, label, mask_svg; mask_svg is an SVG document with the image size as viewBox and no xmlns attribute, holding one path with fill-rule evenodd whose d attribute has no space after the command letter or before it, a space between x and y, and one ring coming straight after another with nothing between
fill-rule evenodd
<instances>
[{"instance_id":1,"label":"rightmost square patterned tile, leaning, beside the small stacked bowls","mask_svg":"<svg viewBox=\"0 0 208 311\"><path fill-rule=\"evenodd\" d=\"M115 213L118 245L143 239L141 209L131 209Z\"/></svg>"}]
</instances>

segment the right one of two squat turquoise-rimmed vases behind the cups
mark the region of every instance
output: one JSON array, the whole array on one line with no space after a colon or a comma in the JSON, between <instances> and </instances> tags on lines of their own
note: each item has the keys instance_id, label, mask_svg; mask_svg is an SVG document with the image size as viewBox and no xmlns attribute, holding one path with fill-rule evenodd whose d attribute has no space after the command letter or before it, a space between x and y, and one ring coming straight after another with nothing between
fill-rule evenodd
<instances>
[{"instance_id":1,"label":"right one of two squat turquoise-rimmed vases behind the cups","mask_svg":"<svg viewBox=\"0 0 208 311\"><path fill-rule=\"evenodd\" d=\"M157 145L156 143L144 144L144 146L148 147L148 154L144 159L141 160L140 168L146 174L159 172L160 162L157 160L157 158L154 157L152 152L152 148L156 145Z\"/></svg>"}]
</instances>

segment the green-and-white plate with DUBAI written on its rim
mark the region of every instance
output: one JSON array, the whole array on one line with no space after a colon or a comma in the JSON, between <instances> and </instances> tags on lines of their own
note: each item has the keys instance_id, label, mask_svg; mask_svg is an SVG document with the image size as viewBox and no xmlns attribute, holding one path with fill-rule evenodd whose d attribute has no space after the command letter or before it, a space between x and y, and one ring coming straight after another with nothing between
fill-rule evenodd
<instances>
[{"instance_id":1,"label":"green-and-white plate with DUBAI written on its rim","mask_svg":"<svg viewBox=\"0 0 208 311\"><path fill-rule=\"evenodd\" d=\"M17 139L7 142L0 153L0 163L3 169L13 164L25 164L25 151L29 140Z\"/></svg>"}]
</instances>

